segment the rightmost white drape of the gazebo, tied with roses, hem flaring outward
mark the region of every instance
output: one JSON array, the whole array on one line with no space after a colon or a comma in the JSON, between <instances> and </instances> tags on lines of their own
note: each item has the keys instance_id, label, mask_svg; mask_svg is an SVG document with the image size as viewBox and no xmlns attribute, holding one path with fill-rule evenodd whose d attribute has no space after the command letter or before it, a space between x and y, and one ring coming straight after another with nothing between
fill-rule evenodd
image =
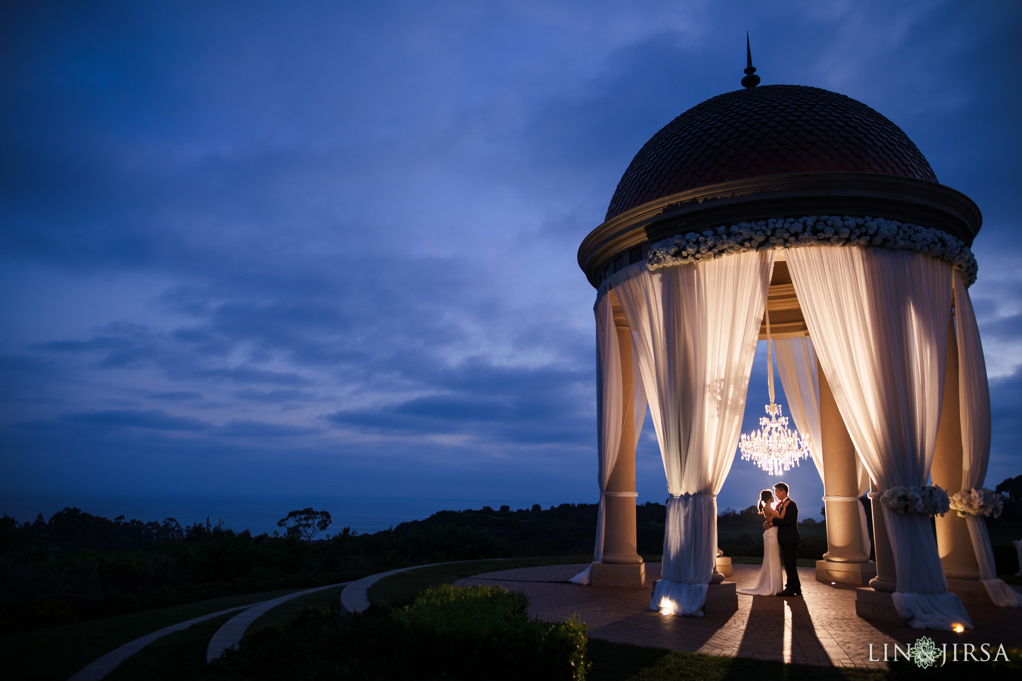
<instances>
[{"instance_id":1,"label":"rightmost white drape of the gazebo, tied with roses, hem flaring outward","mask_svg":"<svg viewBox=\"0 0 1022 681\"><path fill-rule=\"evenodd\" d=\"M955 331L959 350L959 402L962 412L962 489L981 487L990 461L990 388L979 339L976 314L962 275L954 273ZM958 490L947 490L954 494ZM1019 606L1015 591L997 579L986 521L966 516L969 536L979 564L979 578L997 605Z\"/></svg>"}]
</instances>

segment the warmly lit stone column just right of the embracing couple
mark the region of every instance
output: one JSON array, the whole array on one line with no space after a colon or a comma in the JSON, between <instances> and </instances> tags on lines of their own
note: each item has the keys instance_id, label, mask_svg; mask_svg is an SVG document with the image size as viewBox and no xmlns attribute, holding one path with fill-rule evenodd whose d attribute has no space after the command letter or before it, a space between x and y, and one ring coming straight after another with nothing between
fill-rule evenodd
<instances>
[{"instance_id":1,"label":"warmly lit stone column just right of the embracing couple","mask_svg":"<svg viewBox=\"0 0 1022 681\"><path fill-rule=\"evenodd\" d=\"M824 494L845 497L828 500L827 548L817 561L818 582L843 582L865 586L876 576L863 543L863 516L860 513L858 470L855 446L834 400L823 368L817 362L820 382L820 443L824 459Z\"/></svg>"}]
</instances>

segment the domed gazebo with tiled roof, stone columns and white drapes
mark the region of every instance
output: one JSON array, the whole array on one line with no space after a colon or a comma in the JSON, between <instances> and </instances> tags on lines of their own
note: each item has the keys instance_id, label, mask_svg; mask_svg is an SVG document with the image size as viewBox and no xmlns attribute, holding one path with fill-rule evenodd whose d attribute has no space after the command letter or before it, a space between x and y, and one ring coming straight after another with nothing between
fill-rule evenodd
<instances>
[{"instance_id":1,"label":"domed gazebo with tiled roof, stone columns and white drapes","mask_svg":"<svg viewBox=\"0 0 1022 681\"><path fill-rule=\"evenodd\" d=\"M639 150L578 249L597 289L600 521L594 563L574 581L645 582L635 447L648 404L670 494L650 607L737 606L715 496L765 309L824 480L817 579L861 585L865 617L971 627L963 601L1009 605L1014 593L995 579L982 516L938 517L936 541L929 518L947 503L931 479L948 494L979 489L989 457L968 294L979 208L869 106L756 87L754 70L750 59L744 89L697 104Z\"/></svg>"}]
</instances>

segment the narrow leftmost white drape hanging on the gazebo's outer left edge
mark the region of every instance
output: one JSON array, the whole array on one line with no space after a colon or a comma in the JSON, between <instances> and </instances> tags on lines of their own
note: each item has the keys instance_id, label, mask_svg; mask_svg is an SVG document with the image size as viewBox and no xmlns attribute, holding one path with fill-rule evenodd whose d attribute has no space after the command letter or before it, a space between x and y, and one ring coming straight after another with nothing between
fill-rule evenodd
<instances>
[{"instance_id":1,"label":"narrow leftmost white drape hanging on the gazebo's outer left edge","mask_svg":"<svg viewBox=\"0 0 1022 681\"><path fill-rule=\"evenodd\" d=\"M607 481L617 461L617 450L621 444L622 381L621 352L614 326L614 312L610 295L604 290L597 300L596 313L596 432L597 432L597 474L600 487L600 506L596 520L596 547L593 562L603 560L603 538L606 528L604 509ZM590 566L571 578L575 584L589 584L593 567Z\"/></svg>"}]
</instances>

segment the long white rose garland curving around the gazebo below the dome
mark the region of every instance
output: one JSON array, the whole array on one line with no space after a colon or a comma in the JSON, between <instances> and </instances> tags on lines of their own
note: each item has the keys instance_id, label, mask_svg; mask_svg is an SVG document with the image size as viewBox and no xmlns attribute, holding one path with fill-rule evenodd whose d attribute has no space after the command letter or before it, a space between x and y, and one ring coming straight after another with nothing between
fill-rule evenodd
<instances>
[{"instance_id":1,"label":"long white rose garland curving around the gazebo below the dome","mask_svg":"<svg viewBox=\"0 0 1022 681\"><path fill-rule=\"evenodd\" d=\"M966 286L972 286L979 270L969 247L940 230L881 217L848 215L760 220L702 233L679 234L653 243L646 266L655 271L673 264L712 260L731 253L811 244L880 246L938 257L962 271Z\"/></svg>"}]
</instances>

